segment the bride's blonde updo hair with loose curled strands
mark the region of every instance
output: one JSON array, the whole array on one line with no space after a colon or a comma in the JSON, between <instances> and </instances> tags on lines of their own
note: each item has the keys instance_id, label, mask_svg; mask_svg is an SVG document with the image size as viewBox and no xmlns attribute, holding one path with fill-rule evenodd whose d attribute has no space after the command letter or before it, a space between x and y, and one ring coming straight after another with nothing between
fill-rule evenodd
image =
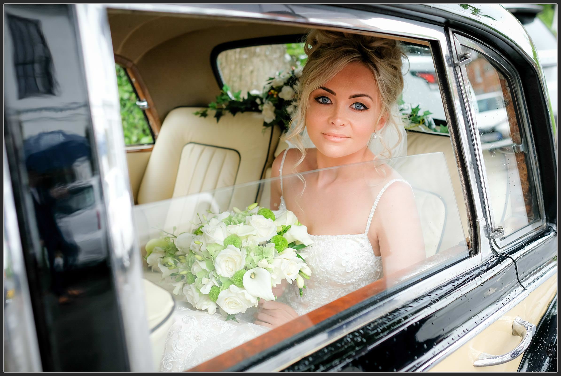
<instances>
[{"instance_id":1,"label":"bride's blonde updo hair with loose curled strands","mask_svg":"<svg viewBox=\"0 0 561 376\"><path fill-rule=\"evenodd\" d=\"M314 29L307 34L304 51L308 58L293 102L296 104L296 110L292 114L289 130L282 137L282 140L289 141L300 150L301 157L296 165L304 161L306 153L302 132L306 127L306 112L311 92L324 86L351 62L364 63L371 69L378 86L381 104L376 124L385 117L387 120L384 129L394 127L398 134L396 145L401 143L404 127L397 100L403 91L401 70L402 59L406 58L406 54L397 40ZM379 155L391 158L392 148L385 144L384 137L380 133L378 132L378 139L384 150ZM376 158L379 155L376 155Z\"/></svg>"}]
</instances>

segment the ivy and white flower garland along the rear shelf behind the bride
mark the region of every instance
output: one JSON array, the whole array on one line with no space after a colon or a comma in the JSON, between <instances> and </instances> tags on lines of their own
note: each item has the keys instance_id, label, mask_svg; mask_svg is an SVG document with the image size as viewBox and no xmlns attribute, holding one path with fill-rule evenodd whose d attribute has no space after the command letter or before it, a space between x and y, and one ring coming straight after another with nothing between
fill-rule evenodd
<instances>
[{"instance_id":1,"label":"ivy and white flower garland along the rear shelf behind the bride","mask_svg":"<svg viewBox=\"0 0 561 376\"><path fill-rule=\"evenodd\" d=\"M241 90L229 94L230 88L224 85L220 94L217 95L215 102L211 102L208 108L196 111L194 114L200 117L207 117L209 110L214 110L214 117L218 122L223 116L224 111L235 115L238 112L261 111L263 114L263 126L271 127L278 125L283 129L288 129L292 114L295 112L296 104L293 103L295 94L300 86L302 67L291 67L288 72L279 71L274 77L269 77L263 86L261 93L259 90L251 90L245 98L241 97ZM434 120L430 115L432 112L420 112L420 107L412 107L410 103L405 103L399 99L399 112L408 120L406 130L420 127L422 130L430 132L448 133L447 126L440 126L436 130Z\"/></svg>"}]
</instances>

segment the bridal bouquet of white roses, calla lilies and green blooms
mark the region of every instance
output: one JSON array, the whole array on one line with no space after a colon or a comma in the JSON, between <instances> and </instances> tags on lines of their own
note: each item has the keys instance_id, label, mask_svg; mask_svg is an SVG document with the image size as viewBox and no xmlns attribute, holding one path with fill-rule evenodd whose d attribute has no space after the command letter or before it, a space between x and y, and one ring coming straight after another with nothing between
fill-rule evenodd
<instances>
[{"instance_id":1,"label":"bridal bouquet of white roses, calla lilies and green blooms","mask_svg":"<svg viewBox=\"0 0 561 376\"><path fill-rule=\"evenodd\" d=\"M302 296L304 279L311 275L302 249L312 240L294 213L254 203L246 210L210 214L197 214L200 222L192 222L197 226L192 233L164 231L146 244L146 262L159 268L173 294L185 295L194 308L210 314L218 306L234 320L258 299L275 300L272 287L283 279L295 281Z\"/></svg>"}]
</instances>

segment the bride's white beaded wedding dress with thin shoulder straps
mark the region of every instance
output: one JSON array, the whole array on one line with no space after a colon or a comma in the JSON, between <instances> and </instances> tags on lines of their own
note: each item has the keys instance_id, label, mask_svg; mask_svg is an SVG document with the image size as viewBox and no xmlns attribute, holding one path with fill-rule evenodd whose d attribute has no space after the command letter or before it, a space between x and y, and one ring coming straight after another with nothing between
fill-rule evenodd
<instances>
[{"instance_id":1,"label":"bride's white beaded wedding dress with thin shoulder straps","mask_svg":"<svg viewBox=\"0 0 561 376\"><path fill-rule=\"evenodd\" d=\"M282 194L283 155L280 163L280 190ZM304 296L300 297L296 283L288 286L278 301L290 305L298 315L304 315L339 297L364 287L383 276L381 256L374 255L370 240L366 235L381 195L389 181L379 192L364 233L352 235L310 235L314 244L306 247L306 263L312 270L307 281ZM280 196L279 210L286 210L283 196ZM186 307L176 309L175 322L169 329L160 371L183 371L222 354L242 343L269 331L269 328L251 323L256 308L245 314L238 314L238 323L225 318L218 312L210 315Z\"/></svg>"}]
</instances>

